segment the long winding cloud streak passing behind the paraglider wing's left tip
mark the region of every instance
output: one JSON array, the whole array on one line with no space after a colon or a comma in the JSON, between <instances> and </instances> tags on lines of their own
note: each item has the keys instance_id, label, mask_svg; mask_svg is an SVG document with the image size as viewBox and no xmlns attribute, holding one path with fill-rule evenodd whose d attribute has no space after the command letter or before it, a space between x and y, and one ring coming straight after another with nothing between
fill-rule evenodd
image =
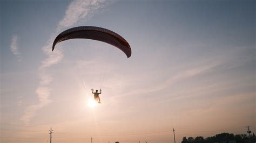
<instances>
[{"instance_id":1,"label":"long winding cloud streak passing behind the paraglider wing's left tip","mask_svg":"<svg viewBox=\"0 0 256 143\"><path fill-rule=\"evenodd\" d=\"M105 6L105 0L76 0L72 1L68 6L68 9L65 12L65 16L62 20L60 20L56 33L52 35L56 35L59 30L63 30L64 28L71 27L77 24L79 21L85 20L89 15L91 15L95 10L102 8ZM39 103L28 106L24 114L21 117L21 120L24 123L29 124L31 118L36 116L36 112L43 108L43 106L49 104L51 100L49 99L51 95L51 89L49 88L50 83L53 78L45 73L45 69L60 62L64 55L60 48L56 48L54 52L51 51L51 46L54 37L51 37L45 46L43 46L42 50L47 56L39 66L39 87L36 89L36 94L38 96Z\"/></svg>"}]
</instances>

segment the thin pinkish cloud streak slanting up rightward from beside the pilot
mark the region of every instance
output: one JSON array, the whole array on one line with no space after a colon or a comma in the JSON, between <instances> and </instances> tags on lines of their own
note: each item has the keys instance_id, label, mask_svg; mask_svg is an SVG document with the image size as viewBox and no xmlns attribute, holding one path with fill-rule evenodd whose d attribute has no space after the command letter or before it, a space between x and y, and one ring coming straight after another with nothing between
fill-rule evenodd
<instances>
[{"instance_id":1,"label":"thin pinkish cloud streak slanting up rightward from beside the pilot","mask_svg":"<svg viewBox=\"0 0 256 143\"><path fill-rule=\"evenodd\" d=\"M204 57L203 59L199 59L199 60L191 60L190 62L177 67L177 69L179 69L177 70L178 73L172 74L172 76L166 78L161 83L157 85L155 84L153 87L138 88L138 89L134 88L134 90L126 92L125 94L120 94L119 97L127 96L127 95L147 94L150 92L162 90L177 82L187 80L188 78L191 78L194 76L200 76L201 74L204 74L207 71L210 71L213 68L218 66L225 66L227 69L242 66L248 61L255 60L254 56L248 56L246 54L240 55L241 53L246 53L249 50L250 49L246 47L240 47L240 48L235 48L235 50L233 51L225 51L222 54L215 54L207 58ZM129 82L126 82L125 84L138 83L138 82L139 81L136 81L136 82L129 81ZM139 83L139 84L142 84L142 83Z\"/></svg>"}]
</instances>

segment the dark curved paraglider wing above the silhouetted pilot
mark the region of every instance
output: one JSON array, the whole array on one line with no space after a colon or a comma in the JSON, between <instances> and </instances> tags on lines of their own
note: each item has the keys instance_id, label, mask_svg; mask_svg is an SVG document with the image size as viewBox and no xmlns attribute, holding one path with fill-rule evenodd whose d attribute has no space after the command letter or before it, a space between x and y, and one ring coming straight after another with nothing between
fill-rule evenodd
<instances>
[{"instance_id":1,"label":"dark curved paraglider wing above the silhouetted pilot","mask_svg":"<svg viewBox=\"0 0 256 143\"><path fill-rule=\"evenodd\" d=\"M122 50L126 54L127 58L129 58L132 53L129 43L119 34L105 28L95 26L79 26L63 31L55 38L52 45L52 51L56 44L69 39L92 39L106 42Z\"/></svg>"}]
</instances>

